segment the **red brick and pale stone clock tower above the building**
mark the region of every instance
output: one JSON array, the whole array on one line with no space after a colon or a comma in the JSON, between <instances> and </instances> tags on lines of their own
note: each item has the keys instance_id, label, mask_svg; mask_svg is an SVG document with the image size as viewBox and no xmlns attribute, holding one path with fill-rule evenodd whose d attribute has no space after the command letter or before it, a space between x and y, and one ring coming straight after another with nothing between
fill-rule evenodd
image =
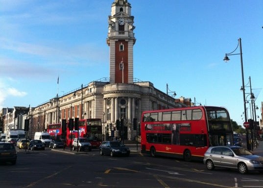
<instances>
[{"instance_id":1,"label":"red brick and pale stone clock tower above the building","mask_svg":"<svg viewBox=\"0 0 263 188\"><path fill-rule=\"evenodd\" d=\"M134 17L127 0L115 0L109 16L110 83L133 83Z\"/></svg>"}]
</instances>

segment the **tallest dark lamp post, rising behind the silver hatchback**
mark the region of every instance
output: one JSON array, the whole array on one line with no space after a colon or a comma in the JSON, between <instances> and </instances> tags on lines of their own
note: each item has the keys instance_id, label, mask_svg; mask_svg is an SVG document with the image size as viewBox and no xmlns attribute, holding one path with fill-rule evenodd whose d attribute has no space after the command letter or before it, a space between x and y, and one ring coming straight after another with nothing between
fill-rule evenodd
<instances>
[{"instance_id":1,"label":"tallest dark lamp post, rising behind the silver hatchback","mask_svg":"<svg viewBox=\"0 0 263 188\"><path fill-rule=\"evenodd\" d=\"M234 53L239 47L239 53ZM230 59L228 58L229 55L240 55L240 63L241 63L241 75L242 75L242 88L243 88L243 103L244 103L244 116L245 122L247 122L247 114L246 114L246 98L245 98L245 84L244 84L244 71L243 71L243 58L242 58L242 45L241 45L241 38L238 39L238 46L236 49L230 53L226 53L224 57L224 61L228 62ZM248 128L246 128L246 145L247 149L250 148L249 140L248 140Z\"/></svg>"}]
</instances>

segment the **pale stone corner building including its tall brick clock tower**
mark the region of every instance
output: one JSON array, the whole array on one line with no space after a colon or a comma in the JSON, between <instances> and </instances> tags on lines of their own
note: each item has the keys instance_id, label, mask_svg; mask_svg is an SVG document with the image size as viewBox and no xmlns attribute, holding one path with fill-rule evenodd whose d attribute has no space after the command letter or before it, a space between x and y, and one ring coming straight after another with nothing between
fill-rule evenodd
<instances>
[{"instance_id":1,"label":"pale stone corner building including its tall brick clock tower","mask_svg":"<svg viewBox=\"0 0 263 188\"><path fill-rule=\"evenodd\" d=\"M107 135L120 137L120 129L116 127L119 119L123 122L124 139L134 140L137 135L134 121L140 129L143 111L190 106L191 99L181 97L178 102L178 99L154 88L153 83L134 79L134 29L130 3L127 0L115 0L108 17L109 81L92 81L31 108L31 137L34 132L47 130L49 124L61 123L62 119L101 118L103 139Z\"/></svg>"}]
</instances>

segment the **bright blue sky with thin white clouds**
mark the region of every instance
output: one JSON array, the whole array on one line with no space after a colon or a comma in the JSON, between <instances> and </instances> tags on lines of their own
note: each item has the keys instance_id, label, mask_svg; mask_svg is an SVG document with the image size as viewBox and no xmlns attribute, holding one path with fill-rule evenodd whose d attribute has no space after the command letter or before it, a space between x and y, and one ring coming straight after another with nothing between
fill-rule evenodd
<instances>
[{"instance_id":1,"label":"bright blue sky with thin white clouds","mask_svg":"<svg viewBox=\"0 0 263 188\"><path fill-rule=\"evenodd\" d=\"M109 77L113 1L0 0L0 109L35 107L55 97L58 75L59 95ZM262 0L128 1L136 26L134 78L163 92L168 84L176 97L224 106L242 124L240 55L223 61L241 38L244 82L251 76L261 107Z\"/></svg>"}]
</instances>

